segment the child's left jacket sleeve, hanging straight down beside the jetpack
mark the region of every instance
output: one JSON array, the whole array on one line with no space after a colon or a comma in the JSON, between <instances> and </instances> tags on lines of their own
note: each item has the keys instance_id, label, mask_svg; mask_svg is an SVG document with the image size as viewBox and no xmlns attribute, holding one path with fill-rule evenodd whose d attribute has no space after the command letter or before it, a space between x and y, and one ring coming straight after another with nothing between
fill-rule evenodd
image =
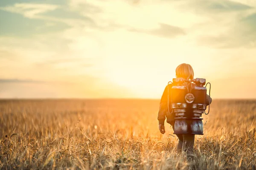
<instances>
[{"instance_id":1,"label":"child's left jacket sleeve, hanging straight down beside the jetpack","mask_svg":"<svg viewBox=\"0 0 256 170\"><path fill-rule=\"evenodd\" d=\"M166 88L163 91L163 95L161 97L161 100L160 100L160 106L159 106L159 111L158 111L158 116L157 116L159 125L160 124L164 125L164 121L166 119L166 112L168 110L168 108L167 108L167 102L168 102L167 97L168 97L168 89L167 89L167 86L166 86Z\"/></svg>"}]
</instances>

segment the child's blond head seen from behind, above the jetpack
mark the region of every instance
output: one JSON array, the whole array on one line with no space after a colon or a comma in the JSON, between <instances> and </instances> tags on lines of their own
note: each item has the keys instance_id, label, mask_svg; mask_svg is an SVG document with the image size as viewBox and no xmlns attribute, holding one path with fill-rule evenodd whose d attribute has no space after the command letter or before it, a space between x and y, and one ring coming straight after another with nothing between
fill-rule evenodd
<instances>
[{"instance_id":1,"label":"child's blond head seen from behind, above the jetpack","mask_svg":"<svg viewBox=\"0 0 256 170\"><path fill-rule=\"evenodd\" d=\"M189 64L180 64L176 68L176 77L184 79L194 79L194 71L191 65Z\"/></svg>"}]
</instances>

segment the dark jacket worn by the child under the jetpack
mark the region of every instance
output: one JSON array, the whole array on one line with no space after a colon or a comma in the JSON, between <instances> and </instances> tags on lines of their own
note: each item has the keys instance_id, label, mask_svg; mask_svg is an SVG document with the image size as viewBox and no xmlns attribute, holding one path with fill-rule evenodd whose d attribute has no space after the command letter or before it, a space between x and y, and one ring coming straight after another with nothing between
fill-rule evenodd
<instances>
[{"instance_id":1,"label":"dark jacket worn by the child under the jetpack","mask_svg":"<svg viewBox=\"0 0 256 170\"><path fill-rule=\"evenodd\" d=\"M172 84L169 84L169 91L171 89L172 89ZM206 102L207 102L207 105L211 104L212 102L212 98L210 98L209 95L207 95ZM172 108L169 108L169 111L170 113L172 113ZM168 112L168 88L166 86L160 100L160 107L159 107L158 116L157 116L159 124L164 125L165 119L167 123L171 124L171 121L174 121L175 114L174 113L170 114L170 113Z\"/></svg>"}]
</instances>

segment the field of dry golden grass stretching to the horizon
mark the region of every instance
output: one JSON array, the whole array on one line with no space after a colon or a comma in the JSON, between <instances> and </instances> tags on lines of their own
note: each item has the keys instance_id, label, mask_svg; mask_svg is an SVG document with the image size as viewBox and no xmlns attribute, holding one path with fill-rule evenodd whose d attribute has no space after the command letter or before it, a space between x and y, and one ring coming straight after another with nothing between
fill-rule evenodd
<instances>
[{"instance_id":1,"label":"field of dry golden grass stretching to the horizon","mask_svg":"<svg viewBox=\"0 0 256 170\"><path fill-rule=\"evenodd\" d=\"M0 169L256 169L256 101L215 100L195 160L157 100L0 101ZM7 135L7 137L6 137Z\"/></svg>"}]
</instances>

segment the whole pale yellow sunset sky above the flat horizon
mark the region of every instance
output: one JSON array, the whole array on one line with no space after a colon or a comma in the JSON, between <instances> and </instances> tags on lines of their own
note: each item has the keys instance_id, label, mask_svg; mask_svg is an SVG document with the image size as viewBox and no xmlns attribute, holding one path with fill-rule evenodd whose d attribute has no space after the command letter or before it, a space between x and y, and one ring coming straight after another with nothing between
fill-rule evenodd
<instances>
[{"instance_id":1,"label":"whole pale yellow sunset sky above the flat horizon","mask_svg":"<svg viewBox=\"0 0 256 170\"><path fill-rule=\"evenodd\" d=\"M256 1L0 1L0 98L160 99L181 63L256 98Z\"/></svg>"}]
</instances>

